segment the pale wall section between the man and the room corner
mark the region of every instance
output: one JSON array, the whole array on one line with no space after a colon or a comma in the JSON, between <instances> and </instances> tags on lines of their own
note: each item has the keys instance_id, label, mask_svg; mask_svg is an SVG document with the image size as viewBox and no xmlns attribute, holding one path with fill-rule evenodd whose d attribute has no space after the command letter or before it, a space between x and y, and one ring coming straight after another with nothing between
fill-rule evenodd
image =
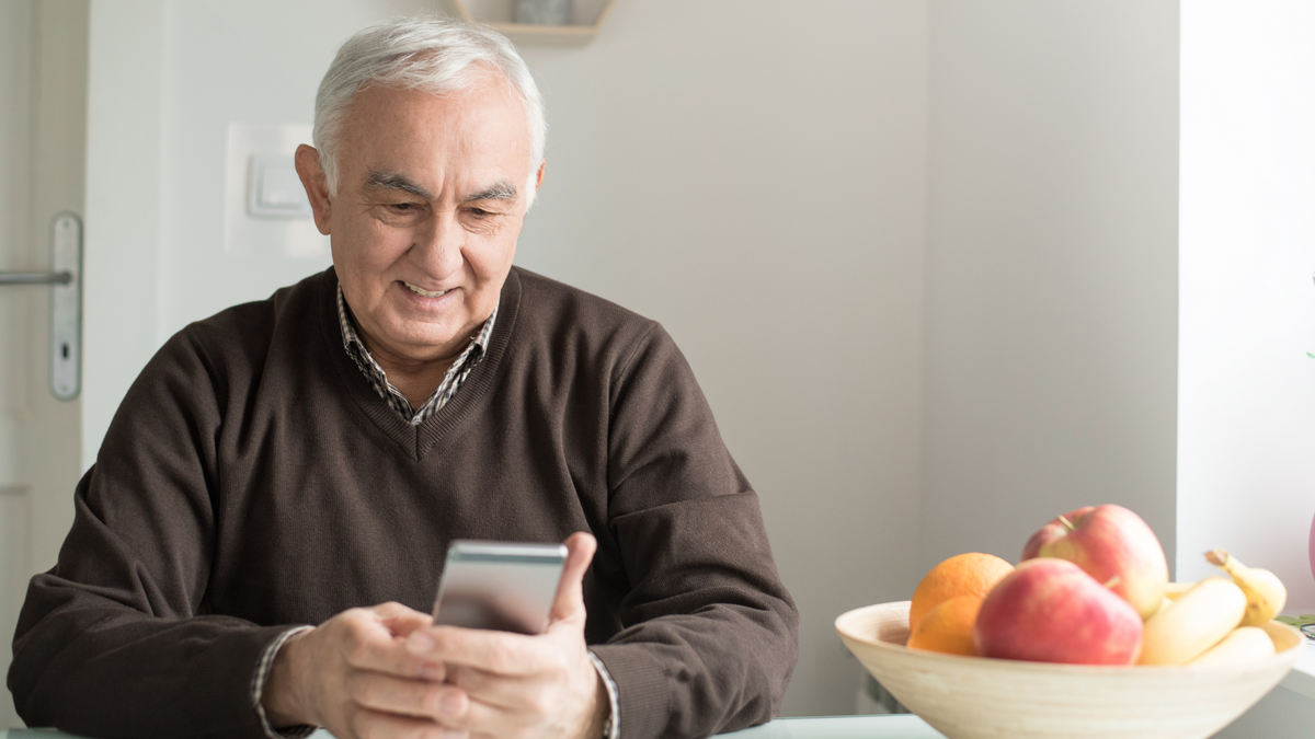
<instances>
[{"instance_id":1,"label":"pale wall section between the man and the room corner","mask_svg":"<svg viewBox=\"0 0 1315 739\"><path fill-rule=\"evenodd\" d=\"M802 615L788 714L853 709L832 621L917 580L926 4L617 4L525 49L548 176L519 263L661 321Z\"/></svg>"}]
</instances>

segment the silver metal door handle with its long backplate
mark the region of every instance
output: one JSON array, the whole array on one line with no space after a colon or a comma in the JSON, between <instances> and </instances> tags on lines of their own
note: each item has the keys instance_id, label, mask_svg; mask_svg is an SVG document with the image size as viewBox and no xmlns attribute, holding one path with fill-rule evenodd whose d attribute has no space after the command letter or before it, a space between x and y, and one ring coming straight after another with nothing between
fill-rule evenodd
<instances>
[{"instance_id":1,"label":"silver metal door handle with its long backplate","mask_svg":"<svg viewBox=\"0 0 1315 739\"><path fill-rule=\"evenodd\" d=\"M54 285L50 291L50 393L72 400L82 389L82 218L50 221L50 272L0 272L4 285Z\"/></svg>"}]
</instances>

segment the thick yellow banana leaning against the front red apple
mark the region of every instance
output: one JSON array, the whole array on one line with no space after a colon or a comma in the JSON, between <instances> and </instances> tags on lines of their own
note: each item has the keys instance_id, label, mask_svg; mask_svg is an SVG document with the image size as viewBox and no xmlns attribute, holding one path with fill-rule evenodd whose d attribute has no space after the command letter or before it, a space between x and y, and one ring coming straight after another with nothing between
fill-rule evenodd
<instances>
[{"instance_id":1,"label":"thick yellow banana leaning against the front red apple","mask_svg":"<svg viewBox=\"0 0 1315 739\"><path fill-rule=\"evenodd\" d=\"M1236 629L1245 613L1241 588L1206 577L1147 621L1137 664L1187 664Z\"/></svg>"}]
</instances>

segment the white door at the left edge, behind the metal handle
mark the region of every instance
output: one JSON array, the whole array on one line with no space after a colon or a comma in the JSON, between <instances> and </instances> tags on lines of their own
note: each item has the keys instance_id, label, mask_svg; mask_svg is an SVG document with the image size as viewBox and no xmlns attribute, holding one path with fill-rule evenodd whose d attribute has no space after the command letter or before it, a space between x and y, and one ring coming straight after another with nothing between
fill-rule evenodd
<instances>
[{"instance_id":1,"label":"white door at the left edge, behind the metal handle","mask_svg":"<svg viewBox=\"0 0 1315 739\"><path fill-rule=\"evenodd\" d=\"M0 0L0 271L47 271L83 213L87 0ZM50 392L50 288L0 285L0 668L33 573L55 563L80 475L80 402ZM21 727L0 700L0 728Z\"/></svg>"}]
</instances>

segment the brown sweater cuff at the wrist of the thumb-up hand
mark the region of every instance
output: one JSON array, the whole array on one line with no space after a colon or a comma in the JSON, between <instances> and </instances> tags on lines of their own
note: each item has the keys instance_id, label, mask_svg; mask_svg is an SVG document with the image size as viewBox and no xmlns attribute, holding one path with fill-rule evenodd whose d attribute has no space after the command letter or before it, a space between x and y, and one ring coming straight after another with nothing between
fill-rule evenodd
<instances>
[{"instance_id":1,"label":"brown sweater cuff at the wrist of the thumb-up hand","mask_svg":"<svg viewBox=\"0 0 1315 739\"><path fill-rule=\"evenodd\" d=\"M671 680L644 644L597 644L589 647L617 688L618 713L613 714L614 736L648 739L663 736L671 723ZM610 690L609 685L609 690Z\"/></svg>"}]
</instances>

